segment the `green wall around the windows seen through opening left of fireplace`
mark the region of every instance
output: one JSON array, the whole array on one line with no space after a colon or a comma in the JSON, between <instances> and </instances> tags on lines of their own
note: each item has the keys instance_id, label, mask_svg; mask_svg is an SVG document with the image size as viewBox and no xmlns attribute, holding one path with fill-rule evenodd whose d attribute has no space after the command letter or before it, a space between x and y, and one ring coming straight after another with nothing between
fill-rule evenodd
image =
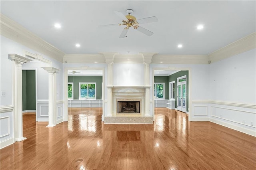
<instances>
[{"instance_id":1,"label":"green wall around the windows seen through opening left of fireplace","mask_svg":"<svg viewBox=\"0 0 256 170\"><path fill-rule=\"evenodd\" d=\"M68 83L73 83L74 99L79 99L79 82L96 83L96 99L102 99L102 76L68 76Z\"/></svg>"}]
</instances>

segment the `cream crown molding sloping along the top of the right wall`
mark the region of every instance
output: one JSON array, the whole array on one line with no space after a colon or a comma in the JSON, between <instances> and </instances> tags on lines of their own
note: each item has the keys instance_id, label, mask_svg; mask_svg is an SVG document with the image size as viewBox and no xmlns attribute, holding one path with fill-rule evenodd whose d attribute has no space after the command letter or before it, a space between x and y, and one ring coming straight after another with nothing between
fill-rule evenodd
<instances>
[{"instance_id":1,"label":"cream crown molding sloping along the top of the right wall","mask_svg":"<svg viewBox=\"0 0 256 170\"><path fill-rule=\"evenodd\" d=\"M208 55L209 60L212 62L220 61L222 59L232 57L234 55L249 51L256 48L256 33L249 34L240 40L226 45Z\"/></svg>"}]
</instances>

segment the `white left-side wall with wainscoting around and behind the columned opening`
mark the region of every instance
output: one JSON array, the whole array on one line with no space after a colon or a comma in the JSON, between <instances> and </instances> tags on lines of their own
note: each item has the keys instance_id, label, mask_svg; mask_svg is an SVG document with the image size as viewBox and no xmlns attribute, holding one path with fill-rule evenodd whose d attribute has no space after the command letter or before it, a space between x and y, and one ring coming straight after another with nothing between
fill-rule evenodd
<instances>
[{"instance_id":1,"label":"white left-side wall with wainscoting around and behind the columned opening","mask_svg":"<svg viewBox=\"0 0 256 170\"><path fill-rule=\"evenodd\" d=\"M1 36L1 58L0 58L0 91L5 91L6 96L0 97L0 144L1 148L8 146L14 142L14 113L13 113L13 99L12 99L12 60L8 58L8 54L16 53L18 55L23 55L23 50L29 51L30 53L42 55L45 59L52 61L52 67L62 69L62 63L47 57L43 54L38 53L24 45L16 43L4 36ZM31 62L22 65L22 67L37 67L38 73L38 99L48 100L48 73L41 67L47 67L48 65L40 62ZM48 66L49 67L49 66ZM58 100L63 100L62 96L62 71L57 75L57 91ZM48 103L47 103L48 105ZM60 105L60 104L59 104ZM8 111L4 111L4 110ZM46 112L46 110L45 110ZM60 108L59 108L60 112ZM44 113L48 115L48 113ZM58 116L60 118L58 113ZM7 117L7 118L6 118ZM48 118L48 116L47 116ZM4 126L4 127L2 127ZM7 127L6 127L7 126ZM8 131L6 131L8 129ZM8 132L8 133L6 133ZM26 137L26 136L25 136Z\"/></svg>"}]
</instances>

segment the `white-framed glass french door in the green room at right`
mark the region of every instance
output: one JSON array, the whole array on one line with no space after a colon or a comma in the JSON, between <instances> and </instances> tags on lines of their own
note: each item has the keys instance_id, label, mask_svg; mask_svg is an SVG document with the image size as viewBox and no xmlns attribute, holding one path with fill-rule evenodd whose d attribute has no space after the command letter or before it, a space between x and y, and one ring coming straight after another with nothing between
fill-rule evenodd
<instances>
[{"instance_id":1,"label":"white-framed glass french door in the green room at right","mask_svg":"<svg viewBox=\"0 0 256 170\"><path fill-rule=\"evenodd\" d=\"M179 79L179 78L178 78ZM184 80L184 79L183 79ZM178 80L178 85L177 85L177 109L178 111L185 112L187 111L187 83L186 81L181 81L179 82Z\"/></svg>"}]
</instances>

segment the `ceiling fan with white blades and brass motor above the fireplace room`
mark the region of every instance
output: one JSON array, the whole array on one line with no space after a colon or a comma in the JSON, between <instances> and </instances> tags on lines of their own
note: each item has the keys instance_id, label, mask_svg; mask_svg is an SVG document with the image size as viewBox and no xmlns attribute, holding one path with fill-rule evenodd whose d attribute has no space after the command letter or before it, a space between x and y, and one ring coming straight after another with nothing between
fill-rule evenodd
<instances>
[{"instance_id":1,"label":"ceiling fan with white blades and brass motor above the fireplace room","mask_svg":"<svg viewBox=\"0 0 256 170\"><path fill-rule=\"evenodd\" d=\"M135 30L142 32L143 34L146 34L147 36L152 36L154 34L153 32L139 26L139 24L145 24L145 23L149 23L149 22L157 22L158 20L155 16L137 20L134 16L131 15L133 10L128 9L128 10L126 10L126 12L128 15L124 16L122 14L122 12L114 11L114 13L116 13L116 15L118 15L122 19L122 24L108 24L108 25L102 25L99 27L117 26L117 25L126 26L124 28L124 30L122 31L122 33L120 34L119 38L127 37L126 35L127 35L127 32L130 27L133 27Z\"/></svg>"}]
</instances>

